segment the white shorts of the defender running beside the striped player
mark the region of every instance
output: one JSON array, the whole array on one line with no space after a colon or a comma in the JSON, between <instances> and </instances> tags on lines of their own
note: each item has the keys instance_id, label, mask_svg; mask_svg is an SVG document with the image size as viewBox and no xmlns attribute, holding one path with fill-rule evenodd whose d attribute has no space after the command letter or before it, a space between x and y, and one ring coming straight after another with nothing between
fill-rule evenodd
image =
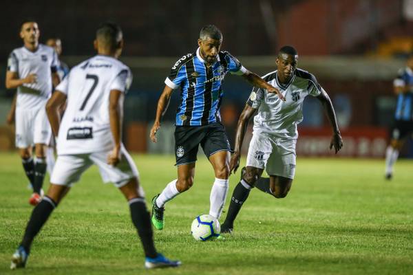
<instances>
[{"instance_id":1,"label":"white shorts of the defender running beside the striped player","mask_svg":"<svg viewBox=\"0 0 413 275\"><path fill-rule=\"evenodd\" d=\"M265 168L270 176L294 179L296 142L297 140L281 140L265 133L253 133L246 166Z\"/></svg>"}]
</instances>

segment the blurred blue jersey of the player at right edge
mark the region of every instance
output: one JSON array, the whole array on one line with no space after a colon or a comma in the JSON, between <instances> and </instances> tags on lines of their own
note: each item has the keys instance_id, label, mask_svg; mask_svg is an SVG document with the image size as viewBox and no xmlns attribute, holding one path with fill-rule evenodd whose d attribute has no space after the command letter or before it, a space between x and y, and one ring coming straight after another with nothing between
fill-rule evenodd
<instances>
[{"instance_id":1,"label":"blurred blue jersey of the player at right edge","mask_svg":"<svg viewBox=\"0 0 413 275\"><path fill-rule=\"evenodd\" d=\"M394 86L409 86L410 90L405 93L400 93L397 98L396 120L413 121L413 71L410 67L400 69Z\"/></svg>"}]
</instances>

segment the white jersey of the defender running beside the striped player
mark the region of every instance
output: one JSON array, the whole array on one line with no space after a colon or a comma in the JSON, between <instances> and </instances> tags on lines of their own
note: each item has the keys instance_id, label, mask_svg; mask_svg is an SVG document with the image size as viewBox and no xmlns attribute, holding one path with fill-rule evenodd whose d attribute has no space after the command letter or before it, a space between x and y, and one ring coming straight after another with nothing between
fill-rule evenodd
<instances>
[{"instance_id":1,"label":"white jersey of the defender running beside the striped player","mask_svg":"<svg viewBox=\"0 0 413 275\"><path fill-rule=\"evenodd\" d=\"M293 77L286 84L279 83L277 71L268 73L263 78L278 88L286 101L280 100L277 94L254 87L247 101L248 105L257 109L254 132L269 133L286 140L297 139L297 124L303 120L304 98L308 95L319 96L321 86L313 74L302 69L295 69Z\"/></svg>"}]
</instances>

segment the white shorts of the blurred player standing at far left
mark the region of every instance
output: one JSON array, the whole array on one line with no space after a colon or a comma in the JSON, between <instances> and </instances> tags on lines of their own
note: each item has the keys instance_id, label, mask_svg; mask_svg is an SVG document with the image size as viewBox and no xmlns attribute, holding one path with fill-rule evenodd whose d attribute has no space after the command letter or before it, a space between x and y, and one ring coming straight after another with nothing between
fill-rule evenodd
<instances>
[{"instance_id":1,"label":"white shorts of the blurred player standing at far left","mask_svg":"<svg viewBox=\"0 0 413 275\"><path fill-rule=\"evenodd\" d=\"M46 109L16 110L16 147L28 148L33 144L49 144L52 129Z\"/></svg>"}]
</instances>

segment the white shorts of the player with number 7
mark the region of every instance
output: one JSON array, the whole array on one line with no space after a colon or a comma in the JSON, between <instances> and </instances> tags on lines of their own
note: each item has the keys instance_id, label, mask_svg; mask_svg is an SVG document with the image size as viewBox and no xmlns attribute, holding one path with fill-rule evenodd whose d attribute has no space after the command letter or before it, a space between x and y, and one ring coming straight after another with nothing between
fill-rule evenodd
<instances>
[{"instance_id":1,"label":"white shorts of the player with number 7","mask_svg":"<svg viewBox=\"0 0 413 275\"><path fill-rule=\"evenodd\" d=\"M123 146L120 152L121 159L116 166L107 164L109 151L79 155L58 155L50 182L57 185L72 186L81 178L87 168L92 164L96 164L105 183L112 182L116 187L122 187L130 179L138 178L139 173L134 160ZM143 197L143 192L141 192L141 195Z\"/></svg>"}]
</instances>

